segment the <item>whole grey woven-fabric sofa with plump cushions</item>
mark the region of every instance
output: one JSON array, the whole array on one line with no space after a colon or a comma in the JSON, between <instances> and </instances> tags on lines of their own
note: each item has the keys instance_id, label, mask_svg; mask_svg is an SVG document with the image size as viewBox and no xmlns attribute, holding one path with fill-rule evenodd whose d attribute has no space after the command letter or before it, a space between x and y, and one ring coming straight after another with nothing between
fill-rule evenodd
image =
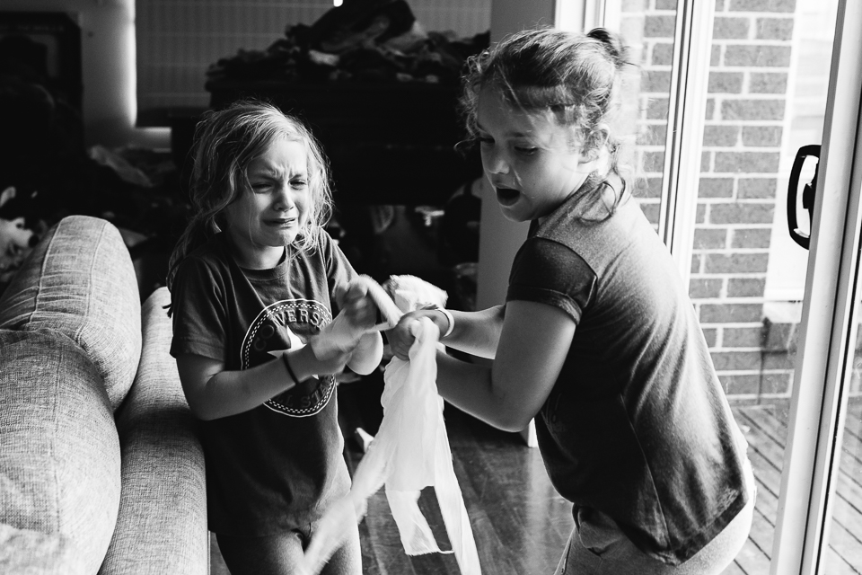
<instances>
[{"instance_id":1,"label":"whole grey woven-fabric sofa with plump cushions","mask_svg":"<svg viewBox=\"0 0 862 575\"><path fill-rule=\"evenodd\" d=\"M0 573L209 571L196 420L117 227L51 227L0 297Z\"/></svg>"}]
</instances>

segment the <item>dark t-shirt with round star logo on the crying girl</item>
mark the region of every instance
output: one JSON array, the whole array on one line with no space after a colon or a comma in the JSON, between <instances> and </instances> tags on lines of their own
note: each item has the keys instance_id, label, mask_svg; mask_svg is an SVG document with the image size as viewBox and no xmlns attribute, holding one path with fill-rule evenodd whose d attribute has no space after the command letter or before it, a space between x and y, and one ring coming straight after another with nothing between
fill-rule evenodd
<instances>
[{"instance_id":1,"label":"dark t-shirt with round star logo on the crying girl","mask_svg":"<svg viewBox=\"0 0 862 575\"><path fill-rule=\"evenodd\" d=\"M274 360L269 350L302 346L330 323L333 288L355 275L327 234L313 253L289 252L271 270L240 268L217 234L177 272L171 354L218 359L227 370ZM347 493L334 394L333 377L312 377L250 411L201 421L210 530L307 526Z\"/></svg>"}]
</instances>

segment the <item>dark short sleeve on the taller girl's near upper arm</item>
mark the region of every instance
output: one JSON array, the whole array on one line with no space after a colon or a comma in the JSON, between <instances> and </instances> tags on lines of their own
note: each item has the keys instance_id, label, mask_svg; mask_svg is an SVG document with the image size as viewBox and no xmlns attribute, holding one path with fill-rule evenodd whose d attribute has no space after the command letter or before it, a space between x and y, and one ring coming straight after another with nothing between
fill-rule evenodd
<instances>
[{"instance_id":1,"label":"dark short sleeve on the taller girl's near upper arm","mask_svg":"<svg viewBox=\"0 0 862 575\"><path fill-rule=\"evenodd\" d=\"M506 301L531 301L559 307L576 323L594 297L596 275L562 243L532 237L515 255Z\"/></svg>"}]
</instances>

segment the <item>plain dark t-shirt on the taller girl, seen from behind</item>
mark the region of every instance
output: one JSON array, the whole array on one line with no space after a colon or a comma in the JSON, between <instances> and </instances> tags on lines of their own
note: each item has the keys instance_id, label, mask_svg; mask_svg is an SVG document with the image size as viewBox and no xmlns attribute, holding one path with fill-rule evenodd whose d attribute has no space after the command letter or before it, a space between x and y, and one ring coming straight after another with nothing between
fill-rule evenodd
<instances>
[{"instance_id":1,"label":"plain dark t-shirt on the taller girl, seen from behind","mask_svg":"<svg viewBox=\"0 0 862 575\"><path fill-rule=\"evenodd\" d=\"M590 224L572 201L532 226L506 296L577 324L536 418L541 454L567 500L679 563L743 508L745 440L675 264L637 204Z\"/></svg>"}]
</instances>

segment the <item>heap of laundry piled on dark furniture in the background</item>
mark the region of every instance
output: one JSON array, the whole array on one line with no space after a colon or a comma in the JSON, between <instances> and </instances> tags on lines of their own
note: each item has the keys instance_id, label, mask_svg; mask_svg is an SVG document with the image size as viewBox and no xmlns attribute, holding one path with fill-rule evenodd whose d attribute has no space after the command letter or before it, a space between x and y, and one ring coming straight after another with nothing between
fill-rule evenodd
<instances>
[{"instance_id":1,"label":"heap of laundry piled on dark furniture in the background","mask_svg":"<svg viewBox=\"0 0 862 575\"><path fill-rule=\"evenodd\" d=\"M267 49L240 49L207 70L207 90L233 82L427 82L457 85L490 32L427 32L405 0L344 0L311 26L289 24Z\"/></svg>"}]
</instances>

